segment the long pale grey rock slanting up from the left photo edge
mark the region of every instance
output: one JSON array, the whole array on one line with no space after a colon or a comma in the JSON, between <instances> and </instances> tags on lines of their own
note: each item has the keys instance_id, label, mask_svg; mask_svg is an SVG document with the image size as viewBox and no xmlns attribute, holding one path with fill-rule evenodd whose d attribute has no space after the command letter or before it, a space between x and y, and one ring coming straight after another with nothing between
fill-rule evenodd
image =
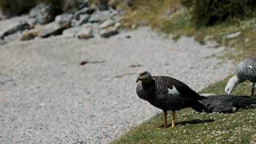
<instances>
[{"instance_id":1,"label":"long pale grey rock slanting up from the left photo edge","mask_svg":"<svg viewBox=\"0 0 256 144\"><path fill-rule=\"evenodd\" d=\"M0 31L0 38L3 38L4 36L8 36L10 34L13 34L19 30L25 30L30 29L30 25L27 24L26 21L20 21L17 23L13 23L12 25L8 26L7 28Z\"/></svg>"}]
</instances>

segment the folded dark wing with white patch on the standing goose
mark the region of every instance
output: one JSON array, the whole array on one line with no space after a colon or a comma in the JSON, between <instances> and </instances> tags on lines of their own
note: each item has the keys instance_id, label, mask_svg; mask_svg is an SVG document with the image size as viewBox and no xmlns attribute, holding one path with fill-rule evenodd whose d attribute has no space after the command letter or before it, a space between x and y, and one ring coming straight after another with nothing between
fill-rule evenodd
<instances>
[{"instance_id":1,"label":"folded dark wing with white patch on the standing goose","mask_svg":"<svg viewBox=\"0 0 256 144\"><path fill-rule=\"evenodd\" d=\"M192 99L201 99L202 97L192 90L189 86L187 86L182 81L176 80L172 77L167 76L153 76L155 79L160 79L165 86L168 88L168 93L174 96L179 96L184 99L192 98Z\"/></svg>"}]
</instances>

